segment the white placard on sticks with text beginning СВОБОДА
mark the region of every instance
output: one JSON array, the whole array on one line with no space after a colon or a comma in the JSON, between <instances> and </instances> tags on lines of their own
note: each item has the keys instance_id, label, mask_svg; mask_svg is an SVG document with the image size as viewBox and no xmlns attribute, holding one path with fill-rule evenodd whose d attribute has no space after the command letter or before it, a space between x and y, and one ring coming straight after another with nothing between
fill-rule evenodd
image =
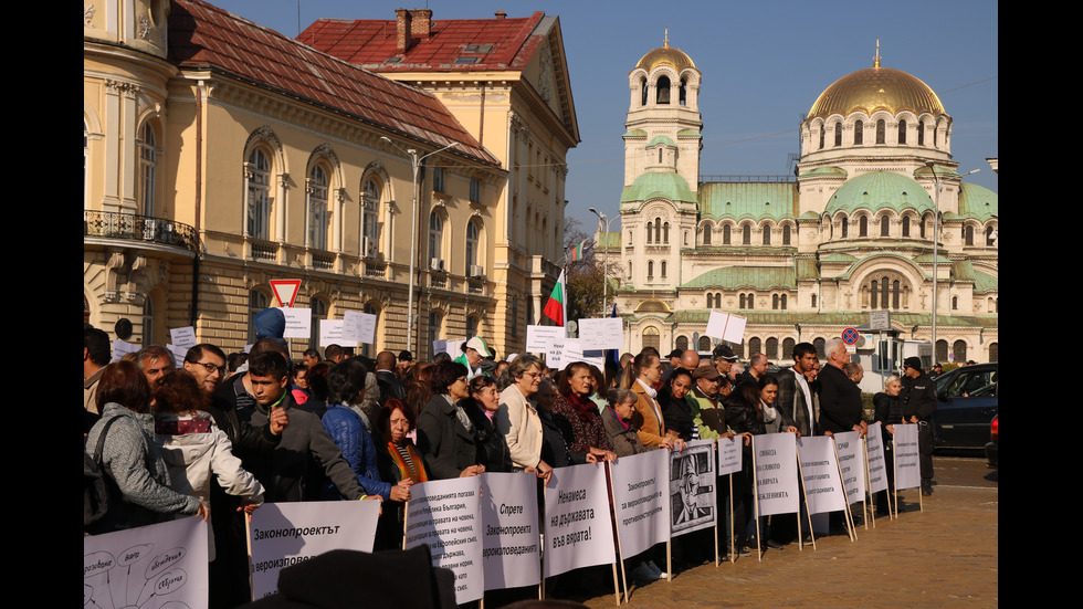
<instances>
[{"instance_id":1,"label":"white placard on sticks with text beginning \u0421\u0412\u041e\u0411\u041e\u0414\u0410","mask_svg":"<svg viewBox=\"0 0 1083 609\"><path fill-rule=\"evenodd\" d=\"M797 437L766 433L753 437L756 504L760 516L797 512Z\"/></svg>"}]
</instances>

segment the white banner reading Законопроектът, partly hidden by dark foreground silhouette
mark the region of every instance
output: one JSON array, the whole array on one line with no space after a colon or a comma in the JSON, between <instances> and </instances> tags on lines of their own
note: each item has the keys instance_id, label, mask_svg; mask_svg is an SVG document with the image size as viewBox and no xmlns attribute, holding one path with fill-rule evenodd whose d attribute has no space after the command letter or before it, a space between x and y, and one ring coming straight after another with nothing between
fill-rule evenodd
<instances>
[{"instance_id":1,"label":"white banner reading \u0417\u0430\u043a\u043e\u043d\u043e\u043f\u0440\u043e\u0435\u043a\u0442\u044a\u0442, partly hidden by dark foreground silhouette","mask_svg":"<svg viewBox=\"0 0 1083 609\"><path fill-rule=\"evenodd\" d=\"M265 503L248 522L252 599L277 591L278 571L332 549L372 552L378 501Z\"/></svg>"}]
</instances>

